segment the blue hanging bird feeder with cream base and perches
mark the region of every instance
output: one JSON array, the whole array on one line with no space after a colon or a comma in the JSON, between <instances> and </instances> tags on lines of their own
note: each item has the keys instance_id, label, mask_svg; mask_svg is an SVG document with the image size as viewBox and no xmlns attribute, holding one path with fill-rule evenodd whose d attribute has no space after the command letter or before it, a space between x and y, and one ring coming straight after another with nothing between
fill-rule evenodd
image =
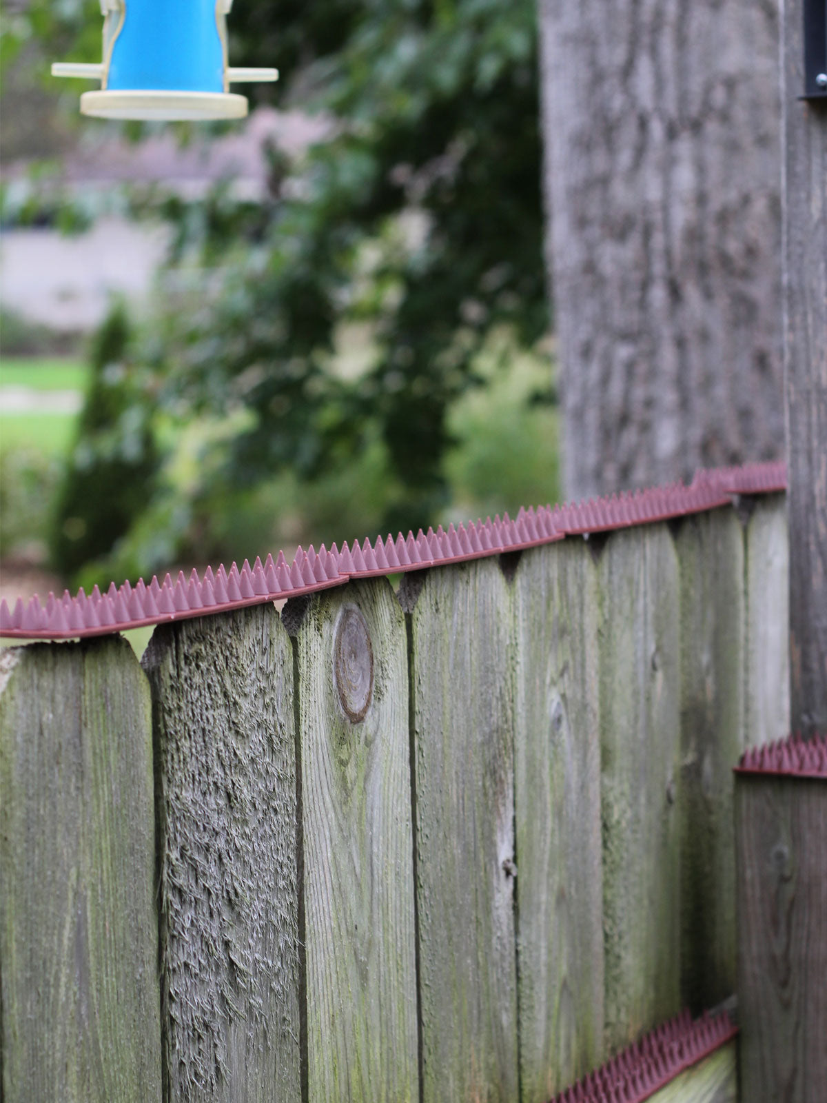
<instances>
[{"instance_id":1,"label":"blue hanging bird feeder with cream base and perches","mask_svg":"<svg viewBox=\"0 0 827 1103\"><path fill-rule=\"evenodd\" d=\"M239 119L241 82L276 81L273 68L230 68L227 13L233 0L100 0L99 65L56 62L53 76L100 81L80 113L104 119Z\"/></svg>"}]
</instances>

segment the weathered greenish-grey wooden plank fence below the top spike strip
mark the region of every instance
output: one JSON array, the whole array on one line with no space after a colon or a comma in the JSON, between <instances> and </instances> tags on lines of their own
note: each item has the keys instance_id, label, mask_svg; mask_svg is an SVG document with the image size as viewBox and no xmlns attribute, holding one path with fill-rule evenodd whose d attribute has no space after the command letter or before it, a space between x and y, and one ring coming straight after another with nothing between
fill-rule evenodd
<instances>
[{"instance_id":1,"label":"weathered greenish-grey wooden plank fence below the top spike strip","mask_svg":"<svg viewBox=\"0 0 827 1103\"><path fill-rule=\"evenodd\" d=\"M142 668L4 652L4 1099L546 1103L729 996L731 767L788 730L750 501L169 624Z\"/></svg>"}]
</instances>

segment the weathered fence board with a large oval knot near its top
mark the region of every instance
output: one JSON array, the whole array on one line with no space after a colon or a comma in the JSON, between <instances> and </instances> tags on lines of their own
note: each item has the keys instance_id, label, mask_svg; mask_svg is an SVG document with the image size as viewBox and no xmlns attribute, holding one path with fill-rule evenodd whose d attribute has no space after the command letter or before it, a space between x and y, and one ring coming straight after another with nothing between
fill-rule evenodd
<instances>
[{"instance_id":1,"label":"weathered fence board with a large oval knot near its top","mask_svg":"<svg viewBox=\"0 0 827 1103\"><path fill-rule=\"evenodd\" d=\"M313 598L296 653L309 1100L416 1101L407 638L387 579Z\"/></svg>"}]
</instances>

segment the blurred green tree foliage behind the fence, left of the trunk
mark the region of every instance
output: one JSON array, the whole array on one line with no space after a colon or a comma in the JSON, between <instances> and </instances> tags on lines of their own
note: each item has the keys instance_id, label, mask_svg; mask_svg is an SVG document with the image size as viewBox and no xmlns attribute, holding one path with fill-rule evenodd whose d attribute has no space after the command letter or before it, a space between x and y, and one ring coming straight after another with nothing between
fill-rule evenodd
<instances>
[{"instance_id":1,"label":"blurred green tree foliage behind the fence, left of the trunk","mask_svg":"<svg viewBox=\"0 0 827 1103\"><path fill-rule=\"evenodd\" d=\"M95 60L96 7L31 0L19 18L53 35L54 56ZM377 528L416 531L444 511L458 403L490 385L492 356L506 378L549 323L535 19L533 0L237 0L233 63L281 71L253 94L323 113L330 135L299 164L270 151L261 202L226 182L143 203L174 240L157 313L119 363L163 463L148 467L106 567L133 574L210 552L239 533L243 504L266 508L275 488L286 502L327 485L331 524L368 489L361 516ZM363 354L348 362L354 326ZM552 401L546 363L534 389ZM107 428L112 457L126 431L121 410ZM86 445L103 454L100 432L85 426L76 474ZM514 414L501 445L526 459L526 439ZM476 464L466 480L491 484L503 470L486 470L484 445ZM92 496L89 483L64 517L88 531ZM58 566L79 566L53 546Z\"/></svg>"}]
</instances>

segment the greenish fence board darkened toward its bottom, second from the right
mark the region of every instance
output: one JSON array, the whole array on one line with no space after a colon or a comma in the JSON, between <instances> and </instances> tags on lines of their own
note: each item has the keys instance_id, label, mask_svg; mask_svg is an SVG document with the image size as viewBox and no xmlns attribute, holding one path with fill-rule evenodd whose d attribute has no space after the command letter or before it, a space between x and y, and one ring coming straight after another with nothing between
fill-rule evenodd
<instances>
[{"instance_id":1,"label":"greenish fence board darkened toward its bottom, second from the right","mask_svg":"<svg viewBox=\"0 0 827 1103\"><path fill-rule=\"evenodd\" d=\"M744 536L734 510L687 517L680 566L681 994L695 1014L735 989L732 767L744 709ZM766 625L765 625L766 628Z\"/></svg>"}]
</instances>

